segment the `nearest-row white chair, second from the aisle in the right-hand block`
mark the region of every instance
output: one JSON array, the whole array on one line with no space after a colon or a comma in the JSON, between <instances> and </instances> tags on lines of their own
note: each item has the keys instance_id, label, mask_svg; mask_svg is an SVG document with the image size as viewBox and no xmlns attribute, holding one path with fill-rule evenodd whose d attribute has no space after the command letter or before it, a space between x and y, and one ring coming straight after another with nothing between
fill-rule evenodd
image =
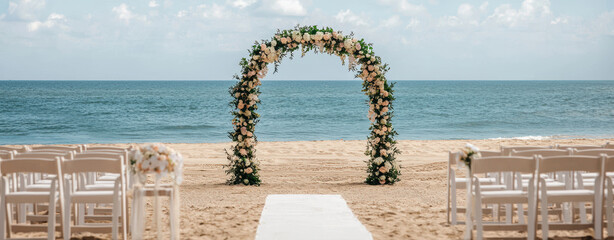
<instances>
[{"instance_id":1,"label":"nearest-row white chair, second from the aisle in the right-hand block","mask_svg":"<svg viewBox=\"0 0 614 240\"><path fill-rule=\"evenodd\" d=\"M570 190L549 190L546 188L546 180L542 177L539 178L538 184L538 201L541 202L541 229L543 239L548 238L548 231L550 228L557 230L571 230L571 229L584 229L593 227L595 229L595 238L601 239L601 211L602 211L602 198L603 198L603 159L601 157L592 156L557 156L557 157L538 157L538 176L541 174L554 173L554 172L572 172L572 171L586 171L598 173L595 186L598 186L596 190L574 188ZM549 203L565 203L565 202L592 202L593 206L593 219L592 223L584 222L581 219L580 223L574 223L574 219L567 223L551 224L548 221L548 204ZM536 205L537 206L537 205ZM537 209L537 207L536 207Z\"/></svg>"}]
</instances>

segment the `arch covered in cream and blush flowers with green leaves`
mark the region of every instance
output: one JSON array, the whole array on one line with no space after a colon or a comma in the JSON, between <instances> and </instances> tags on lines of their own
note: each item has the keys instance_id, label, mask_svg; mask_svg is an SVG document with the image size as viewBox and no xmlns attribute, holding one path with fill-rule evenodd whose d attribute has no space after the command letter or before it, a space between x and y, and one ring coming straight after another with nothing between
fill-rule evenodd
<instances>
[{"instance_id":1,"label":"arch covered in cream and blush flowers with green leaves","mask_svg":"<svg viewBox=\"0 0 614 240\"><path fill-rule=\"evenodd\" d=\"M371 43L364 39L356 39L353 34L343 35L331 28L318 28L317 26L296 26L294 29L278 30L270 40L256 42L249 49L249 58L241 59L241 73L235 75L237 84L230 88L234 98L230 102L233 107L233 131L228 133L233 146L226 152L229 164L226 173L230 175L229 184L260 185L259 161L256 158L257 138L254 134L260 115L258 110L258 95L260 94L260 80L268 72L268 64L275 64L275 72L281 60L301 48L302 56L313 51L315 53L328 53L337 55L345 65L346 58L350 71L356 71L356 77L364 80L362 91L369 96L369 114L371 121L370 135L367 138L369 156L367 163L366 183L372 185L393 184L399 181L399 166L395 154L399 151L395 147L394 136L397 134L392 128L393 107L392 87L386 81L384 74L388 65L383 64L380 57L373 53Z\"/></svg>"}]
</instances>

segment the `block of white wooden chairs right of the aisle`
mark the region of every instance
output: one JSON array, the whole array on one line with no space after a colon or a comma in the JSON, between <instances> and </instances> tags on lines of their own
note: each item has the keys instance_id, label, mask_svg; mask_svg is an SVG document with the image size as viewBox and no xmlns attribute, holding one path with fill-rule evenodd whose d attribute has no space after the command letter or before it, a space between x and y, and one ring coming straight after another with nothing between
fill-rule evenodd
<instances>
[{"instance_id":1,"label":"block of white wooden chairs right of the aisle","mask_svg":"<svg viewBox=\"0 0 614 240\"><path fill-rule=\"evenodd\" d=\"M613 148L605 148L611 147L610 144L601 145L601 146L558 146L558 148L553 147L534 147L534 146L526 146L526 147L515 147L515 148L502 148L500 152L493 151L482 151L482 158L479 158L480 161L474 160L472 161L471 173L467 173L470 175L470 178L457 178L455 176L455 171L450 171L451 165L458 162L459 153L450 153L450 161L449 161L449 180L448 181L448 191L451 195L448 198L448 212L451 211L451 222L453 224L457 224L456 215L456 189L457 188L466 188L467 198L469 200L475 200L473 203L473 209L476 210L473 214L475 217L475 228L478 230L478 237L480 238L482 235L481 221L482 214L487 214L491 218L491 224L486 225L487 230L527 230L528 227L533 226L531 223L527 224L525 221L525 217L529 220L530 213L532 209L536 209L536 206L531 206L531 202L527 199L530 199L527 193L535 192L536 185L534 181L539 180L539 187L542 191L546 191L539 194L563 194L565 191L575 190L573 194L575 194L576 200L579 204L572 205L569 202L573 202L573 198L570 200L569 198L565 198L564 196L551 196L547 198L548 195L544 195L543 199L540 198L542 204L544 202L555 202L552 206L542 207L542 233L545 237L548 235L548 226L554 226L553 229L577 229L579 227L587 227L590 224L586 221L586 211L592 210L597 214L597 210L601 208L593 207L592 209L587 209L584 206L584 202L587 201L588 197L596 197L595 189L598 191L599 188L603 186L600 184L599 171L586 171L582 168L572 168L569 170L556 170L556 171L546 171L548 170L547 166L542 165L542 168L538 168L534 164L533 171L523 172L518 169L519 166L525 166L522 162L527 159L531 159L533 163L536 163L537 157L548 159L553 158L557 159L553 160L558 164L557 166L562 166L561 164L564 162L561 159L572 159L569 160L572 163L582 162L580 160L582 157L588 158L597 158L599 159L602 154L612 155L614 156ZM524 151L521 151L524 150ZM523 160L524 159L524 160ZM488 163L494 164L497 171L491 171L493 169L488 169L485 172L479 172L480 166L477 168L474 167L474 163L480 162L481 166L485 166L483 161L487 161ZM541 162L540 162L541 163ZM554 163L553 163L554 164ZM466 169L466 168L465 168ZM541 169L541 172L539 172ZM458 169L457 169L458 170ZM525 169L526 170L526 169ZM539 172L539 173L538 173ZM536 175L537 174L537 175ZM610 175L610 174L608 174ZM538 178L535 178L538 176ZM536 180L538 179L538 180ZM595 188L595 186L597 186ZM582 196L582 194L584 194ZM478 196L476 196L476 194ZM525 195L522 195L525 194ZM519 196L522 195L522 196ZM584 197L584 198L583 198ZM548 199L549 201L546 201ZM480 202L480 200L484 200ZM563 201L565 200L565 201ZM507 202L506 202L507 201ZM562 203L557 203L561 202ZM513 222L513 204L517 205L517 215L515 216L516 221ZM524 206L529 205L528 210L529 214L525 215ZM478 207L479 206L479 207ZM501 206L504 206L505 211L500 212ZM595 206L595 205L592 205ZM601 206L601 205L598 205ZM479 208L479 212L477 212ZM580 223L573 223L574 214L576 212L580 213ZM500 214L502 213L502 214ZM466 219L471 220L471 215L469 212L466 212ZM501 215L505 215L505 222L501 222ZM559 223L550 223L548 224L548 217L550 214L558 214L559 217L564 219L563 224ZM450 214L449 220L450 220ZM600 216L600 215L599 215ZM492 223L497 224L492 224ZM593 225L590 225L595 227ZM468 226L468 231L471 226ZM596 230L598 231L598 230ZM529 230L529 233L532 231ZM533 231L534 232L534 231ZM611 233L612 231L608 231ZM600 235L596 234L600 238Z\"/></svg>"}]
</instances>

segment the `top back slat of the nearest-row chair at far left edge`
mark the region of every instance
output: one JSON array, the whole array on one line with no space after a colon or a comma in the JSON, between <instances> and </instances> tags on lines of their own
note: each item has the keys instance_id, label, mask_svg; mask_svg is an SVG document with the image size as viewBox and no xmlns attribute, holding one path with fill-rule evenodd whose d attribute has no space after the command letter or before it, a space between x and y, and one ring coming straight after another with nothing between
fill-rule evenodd
<instances>
[{"instance_id":1,"label":"top back slat of the nearest-row chair at far left edge","mask_svg":"<svg viewBox=\"0 0 614 240\"><path fill-rule=\"evenodd\" d=\"M2 174L11 173L46 173L57 174L58 173L58 161L59 159L34 159L24 158L19 160L4 160L0 161L0 169Z\"/></svg>"}]
</instances>

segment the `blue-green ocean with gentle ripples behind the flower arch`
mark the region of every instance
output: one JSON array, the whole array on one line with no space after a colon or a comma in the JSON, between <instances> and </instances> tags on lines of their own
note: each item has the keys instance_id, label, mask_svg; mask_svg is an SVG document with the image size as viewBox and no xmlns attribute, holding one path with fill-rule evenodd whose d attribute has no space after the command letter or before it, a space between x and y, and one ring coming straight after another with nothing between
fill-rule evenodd
<instances>
[{"instance_id":1,"label":"blue-green ocean with gentle ripples behind the flower arch","mask_svg":"<svg viewBox=\"0 0 614 240\"><path fill-rule=\"evenodd\" d=\"M0 145L227 142L234 83L0 81ZM365 139L361 88L263 81L258 140ZM396 81L394 90L400 140L614 137L614 81Z\"/></svg>"}]
</instances>

